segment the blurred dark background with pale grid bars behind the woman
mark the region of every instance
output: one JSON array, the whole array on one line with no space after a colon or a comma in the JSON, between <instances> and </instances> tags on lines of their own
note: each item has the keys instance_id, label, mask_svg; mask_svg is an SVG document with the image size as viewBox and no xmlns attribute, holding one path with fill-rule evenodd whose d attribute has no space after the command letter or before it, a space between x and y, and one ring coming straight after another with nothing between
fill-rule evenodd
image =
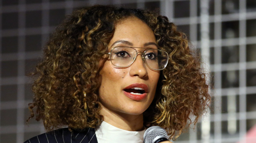
<instances>
[{"instance_id":1,"label":"blurred dark background with pale grid bars behind the woman","mask_svg":"<svg viewBox=\"0 0 256 143\"><path fill-rule=\"evenodd\" d=\"M214 87L209 116L177 143L236 143L256 124L256 0L0 0L0 142L44 133L29 117L31 80L49 34L74 8L160 9L199 48Z\"/></svg>"}]
</instances>

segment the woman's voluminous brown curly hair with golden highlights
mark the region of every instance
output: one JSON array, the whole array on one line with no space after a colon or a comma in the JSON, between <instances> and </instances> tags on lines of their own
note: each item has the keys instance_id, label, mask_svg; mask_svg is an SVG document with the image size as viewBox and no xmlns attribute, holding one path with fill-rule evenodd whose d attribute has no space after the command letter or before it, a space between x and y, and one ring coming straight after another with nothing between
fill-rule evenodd
<instances>
[{"instance_id":1,"label":"woman's voluminous brown curly hair with golden highlights","mask_svg":"<svg viewBox=\"0 0 256 143\"><path fill-rule=\"evenodd\" d=\"M56 27L33 74L30 118L35 107L36 120L42 120L48 131L99 125L99 60L108 50L115 24L132 17L152 29L159 49L170 56L160 72L155 98L143 113L144 125L163 127L175 140L187 124L196 123L208 108L210 95L200 58L189 48L186 35L157 13L100 5L77 9Z\"/></svg>"}]
</instances>

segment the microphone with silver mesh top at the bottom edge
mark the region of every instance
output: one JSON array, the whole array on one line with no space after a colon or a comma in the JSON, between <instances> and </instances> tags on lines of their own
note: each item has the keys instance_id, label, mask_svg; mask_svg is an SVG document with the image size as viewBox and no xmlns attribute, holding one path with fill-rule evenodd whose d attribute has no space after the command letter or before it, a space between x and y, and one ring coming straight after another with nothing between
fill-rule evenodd
<instances>
[{"instance_id":1,"label":"microphone with silver mesh top at the bottom edge","mask_svg":"<svg viewBox=\"0 0 256 143\"><path fill-rule=\"evenodd\" d=\"M152 126L145 131L143 140L144 143L159 143L168 140L168 135L163 128Z\"/></svg>"}]
</instances>

